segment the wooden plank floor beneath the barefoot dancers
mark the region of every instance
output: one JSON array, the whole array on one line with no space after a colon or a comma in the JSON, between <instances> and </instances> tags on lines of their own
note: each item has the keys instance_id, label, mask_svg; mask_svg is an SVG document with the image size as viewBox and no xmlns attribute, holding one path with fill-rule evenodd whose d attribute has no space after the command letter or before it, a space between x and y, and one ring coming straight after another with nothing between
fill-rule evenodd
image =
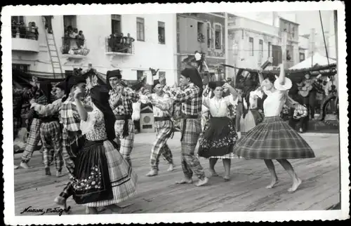
<instances>
[{"instance_id":1,"label":"wooden plank floor beneath the barefoot dancers","mask_svg":"<svg viewBox=\"0 0 351 226\"><path fill-rule=\"evenodd\" d=\"M223 211L305 211L326 210L340 202L339 138L338 134L303 134L314 149L315 159L292 160L296 172L303 180L299 189L290 194L291 179L282 166L277 167L279 185L272 190L265 189L270 175L260 160L233 160L232 178L210 178L208 185L175 185L182 178L180 166L180 133L168 142L173 152L176 169L167 172L168 166L160 159L159 175L147 178L149 171L150 148L154 134L135 135L135 148L132 153L133 167L138 173L138 194L121 204L124 213L194 213ZM20 154L15 154L15 163ZM56 178L44 175L41 154L34 152L29 162L34 168L15 170L15 215L27 208L55 208L53 199L60 194L67 182L67 175ZM201 159L208 174L208 161ZM216 171L223 175L224 168L218 161ZM51 166L51 172L55 169ZM196 182L196 178L194 178ZM70 214L83 214L84 206L67 201L71 206ZM102 211L102 213L110 213ZM25 213L35 215L34 213ZM56 213L57 214L57 213Z\"/></svg>"}]
</instances>

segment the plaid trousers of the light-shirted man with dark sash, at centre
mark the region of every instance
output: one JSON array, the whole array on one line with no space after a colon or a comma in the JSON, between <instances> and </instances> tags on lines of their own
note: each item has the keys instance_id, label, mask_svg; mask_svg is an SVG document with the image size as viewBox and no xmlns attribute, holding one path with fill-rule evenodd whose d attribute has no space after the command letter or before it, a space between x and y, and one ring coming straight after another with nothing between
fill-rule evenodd
<instances>
[{"instance_id":1,"label":"plaid trousers of the light-shirted man with dark sash, at centre","mask_svg":"<svg viewBox=\"0 0 351 226\"><path fill-rule=\"evenodd\" d=\"M173 129L171 121L155 121L156 128L156 140L152 145L151 149L151 168L159 170L159 157L162 154L164 160L168 161L168 164L173 164L173 155L171 149L167 145L167 140Z\"/></svg>"}]
</instances>

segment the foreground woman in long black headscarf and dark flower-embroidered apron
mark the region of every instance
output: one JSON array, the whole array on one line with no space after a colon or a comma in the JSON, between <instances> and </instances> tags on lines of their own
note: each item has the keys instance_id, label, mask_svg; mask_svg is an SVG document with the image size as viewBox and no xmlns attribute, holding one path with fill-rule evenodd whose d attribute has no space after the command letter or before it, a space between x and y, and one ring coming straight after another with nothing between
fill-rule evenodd
<instances>
[{"instance_id":1,"label":"foreground woman in long black headscarf and dark flower-embroidered apron","mask_svg":"<svg viewBox=\"0 0 351 226\"><path fill-rule=\"evenodd\" d=\"M126 201L136 192L137 175L131 165L117 151L114 142L114 113L109 105L109 90L94 86L90 91L92 112L81 102L81 91L74 93L74 101L81 118L81 131L86 136L73 173L73 198L77 204L88 206L97 214L99 206L119 213L116 204Z\"/></svg>"}]
</instances>

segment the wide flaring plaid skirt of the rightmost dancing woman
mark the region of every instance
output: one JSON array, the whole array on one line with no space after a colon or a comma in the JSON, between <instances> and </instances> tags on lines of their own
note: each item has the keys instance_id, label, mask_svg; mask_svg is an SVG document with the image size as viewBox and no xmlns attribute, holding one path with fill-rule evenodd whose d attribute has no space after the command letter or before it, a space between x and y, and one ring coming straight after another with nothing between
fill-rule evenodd
<instances>
[{"instance_id":1,"label":"wide flaring plaid skirt of the rightmost dancing woman","mask_svg":"<svg viewBox=\"0 0 351 226\"><path fill-rule=\"evenodd\" d=\"M265 117L238 140L234 153L251 159L314 158L310 145L279 116Z\"/></svg>"}]
</instances>

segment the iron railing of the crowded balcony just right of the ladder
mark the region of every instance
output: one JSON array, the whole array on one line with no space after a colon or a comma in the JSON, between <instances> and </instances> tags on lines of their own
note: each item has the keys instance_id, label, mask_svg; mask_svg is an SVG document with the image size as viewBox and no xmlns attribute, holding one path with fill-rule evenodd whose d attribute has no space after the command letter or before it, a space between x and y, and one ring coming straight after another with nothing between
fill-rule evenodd
<instances>
[{"instance_id":1,"label":"iron railing of the crowded balcony just right of the ladder","mask_svg":"<svg viewBox=\"0 0 351 226\"><path fill-rule=\"evenodd\" d=\"M86 47L86 40L71 37L62 37L62 54L69 55L88 55L90 50Z\"/></svg>"}]
</instances>

